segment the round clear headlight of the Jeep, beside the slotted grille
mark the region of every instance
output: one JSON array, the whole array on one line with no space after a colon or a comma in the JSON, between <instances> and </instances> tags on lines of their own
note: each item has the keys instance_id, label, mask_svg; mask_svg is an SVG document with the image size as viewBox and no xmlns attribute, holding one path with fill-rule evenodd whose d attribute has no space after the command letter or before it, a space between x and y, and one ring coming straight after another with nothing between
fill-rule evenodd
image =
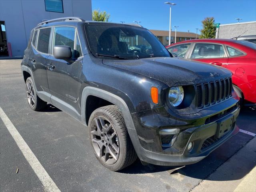
<instances>
[{"instance_id":1,"label":"round clear headlight of the Jeep, beside the slotted grille","mask_svg":"<svg viewBox=\"0 0 256 192\"><path fill-rule=\"evenodd\" d=\"M169 90L169 102L172 106L176 107L181 104L184 98L184 90L182 86L171 87Z\"/></svg>"}]
</instances>

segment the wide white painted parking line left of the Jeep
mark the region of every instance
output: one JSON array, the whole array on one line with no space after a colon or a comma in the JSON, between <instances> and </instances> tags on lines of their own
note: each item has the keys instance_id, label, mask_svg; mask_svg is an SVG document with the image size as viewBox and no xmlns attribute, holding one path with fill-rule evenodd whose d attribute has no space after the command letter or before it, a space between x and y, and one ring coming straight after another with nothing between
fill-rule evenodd
<instances>
[{"instance_id":1,"label":"wide white painted parking line left of the Jeep","mask_svg":"<svg viewBox=\"0 0 256 192\"><path fill-rule=\"evenodd\" d=\"M6 128L12 135L12 138L14 138L16 144L20 148L22 154L34 170L35 174L39 178L39 180L42 182L44 186L45 191L49 192L60 192L60 189L58 186L54 183L52 178L50 178L49 174L46 172L44 167L41 165L41 163L38 161L32 150L29 148L28 144L24 141L22 136L19 134L18 130L14 127L8 116L4 113L2 108L0 107L0 117L2 121L4 122Z\"/></svg>"}]
</instances>

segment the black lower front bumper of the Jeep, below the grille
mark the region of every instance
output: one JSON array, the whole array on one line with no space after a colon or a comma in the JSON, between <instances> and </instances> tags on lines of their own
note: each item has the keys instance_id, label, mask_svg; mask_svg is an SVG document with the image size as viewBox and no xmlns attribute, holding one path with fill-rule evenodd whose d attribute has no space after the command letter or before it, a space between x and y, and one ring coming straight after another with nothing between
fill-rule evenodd
<instances>
[{"instance_id":1,"label":"black lower front bumper of the Jeep, below the grille","mask_svg":"<svg viewBox=\"0 0 256 192\"><path fill-rule=\"evenodd\" d=\"M236 118L240 108L236 104L232 109L232 111L228 111L228 113L221 116L221 118L217 118L212 122L204 123L200 126L193 126L193 120L188 122L175 120L175 127L180 128L180 132L171 147L163 147L161 145L160 136L158 135L159 127L156 128L156 126L153 125L149 126L150 122L148 122L147 126L141 126L140 124L140 127L138 127L139 122L135 121L136 130L129 130L129 134L138 157L144 162L163 166L193 164L208 156L210 152L239 132L239 128L236 126ZM223 110L223 113L224 111L225 110ZM232 117L231 130L222 137L217 138L218 124L228 116ZM148 118L152 119L150 116L148 116ZM135 117L133 117L133 119L135 119ZM142 120L143 118L140 117L137 118L137 120L138 119ZM164 119L159 119L158 116L155 116L153 120L160 121L161 124L161 120L163 121ZM201 120L205 121L204 118ZM198 121L194 120L194 124L195 122L198 124ZM180 127L177 127L177 124L180 124ZM145 131L145 128L147 128L148 131L146 134L143 134L142 132ZM193 148L188 151L188 144L190 142L193 142Z\"/></svg>"}]
</instances>

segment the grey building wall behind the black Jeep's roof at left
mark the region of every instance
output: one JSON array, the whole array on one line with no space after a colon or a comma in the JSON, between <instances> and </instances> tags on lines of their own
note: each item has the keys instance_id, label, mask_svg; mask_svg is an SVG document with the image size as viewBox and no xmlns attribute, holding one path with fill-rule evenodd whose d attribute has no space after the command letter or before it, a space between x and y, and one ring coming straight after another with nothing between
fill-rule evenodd
<instances>
[{"instance_id":1,"label":"grey building wall behind the black Jeep's roof at left","mask_svg":"<svg viewBox=\"0 0 256 192\"><path fill-rule=\"evenodd\" d=\"M0 0L0 21L5 22L12 56L23 56L31 30L42 20L81 17L92 20L91 0L63 0L63 12L48 12L44 0Z\"/></svg>"}]
</instances>

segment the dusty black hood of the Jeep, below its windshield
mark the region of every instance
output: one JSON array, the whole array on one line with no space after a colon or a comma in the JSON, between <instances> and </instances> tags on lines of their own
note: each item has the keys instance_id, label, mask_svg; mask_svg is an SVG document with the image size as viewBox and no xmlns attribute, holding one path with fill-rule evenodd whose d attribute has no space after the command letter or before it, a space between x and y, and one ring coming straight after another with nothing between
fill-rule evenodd
<instances>
[{"instance_id":1,"label":"dusty black hood of the Jeep, below its windshield","mask_svg":"<svg viewBox=\"0 0 256 192\"><path fill-rule=\"evenodd\" d=\"M168 86L195 84L231 76L223 67L182 58L144 58L138 60L103 60L103 64L154 78Z\"/></svg>"}]
</instances>

